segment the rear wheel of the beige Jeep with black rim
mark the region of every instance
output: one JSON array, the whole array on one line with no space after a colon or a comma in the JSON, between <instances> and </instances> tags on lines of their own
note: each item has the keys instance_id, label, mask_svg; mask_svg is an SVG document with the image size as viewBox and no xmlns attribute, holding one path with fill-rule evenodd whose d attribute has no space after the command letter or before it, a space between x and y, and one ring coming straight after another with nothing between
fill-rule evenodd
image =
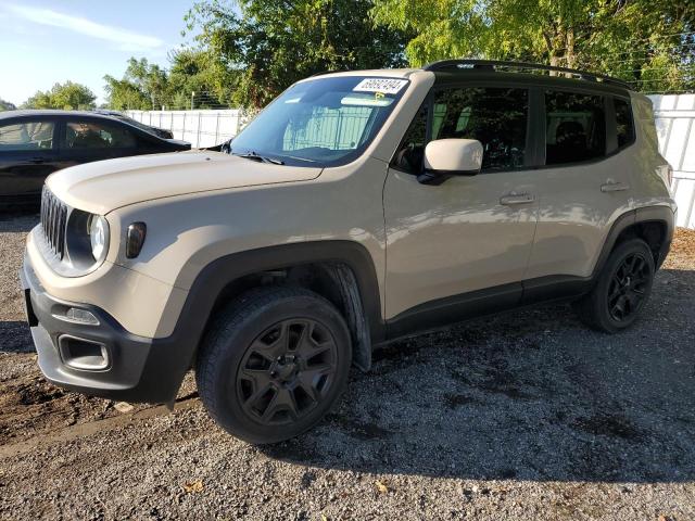
<instances>
[{"instance_id":1,"label":"rear wheel of the beige Jeep with black rim","mask_svg":"<svg viewBox=\"0 0 695 521\"><path fill-rule=\"evenodd\" d=\"M617 333L640 315L654 283L654 255L641 239L618 244L608 256L592 291L574 303L586 326Z\"/></svg>"}]
</instances>

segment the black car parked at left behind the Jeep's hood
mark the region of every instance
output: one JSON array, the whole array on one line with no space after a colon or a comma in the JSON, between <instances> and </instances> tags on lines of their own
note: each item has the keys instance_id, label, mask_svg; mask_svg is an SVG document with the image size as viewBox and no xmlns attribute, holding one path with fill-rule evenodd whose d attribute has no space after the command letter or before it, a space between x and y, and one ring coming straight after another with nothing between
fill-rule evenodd
<instances>
[{"instance_id":1,"label":"black car parked at left behind the Jeep's hood","mask_svg":"<svg viewBox=\"0 0 695 521\"><path fill-rule=\"evenodd\" d=\"M190 150L111 116L77 111L0 113L0 207L39 202L47 176L91 161Z\"/></svg>"}]
</instances>

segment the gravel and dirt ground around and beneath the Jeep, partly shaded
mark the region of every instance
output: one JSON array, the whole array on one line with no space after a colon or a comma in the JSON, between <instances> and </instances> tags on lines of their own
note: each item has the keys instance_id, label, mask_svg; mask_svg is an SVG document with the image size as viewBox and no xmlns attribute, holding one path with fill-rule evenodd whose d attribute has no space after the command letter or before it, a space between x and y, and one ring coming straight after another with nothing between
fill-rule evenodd
<instances>
[{"instance_id":1,"label":"gravel and dirt ground around and beneath the Jeep, partly shaded","mask_svg":"<svg viewBox=\"0 0 695 521\"><path fill-rule=\"evenodd\" d=\"M1 519L695 519L695 232L623 334L554 306L400 342L257 448L190 379L174 414L42 380L16 281L35 221L0 216Z\"/></svg>"}]
</instances>

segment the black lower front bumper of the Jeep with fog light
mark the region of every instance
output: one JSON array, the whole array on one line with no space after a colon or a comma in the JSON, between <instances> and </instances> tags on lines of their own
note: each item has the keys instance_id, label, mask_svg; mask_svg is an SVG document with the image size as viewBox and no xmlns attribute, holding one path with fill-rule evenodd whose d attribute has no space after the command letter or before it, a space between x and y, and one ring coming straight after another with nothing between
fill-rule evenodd
<instances>
[{"instance_id":1,"label":"black lower front bumper of the Jeep with fog light","mask_svg":"<svg viewBox=\"0 0 695 521\"><path fill-rule=\"evenodd\" d=\"M190 346L127 332L103 309L49 295L28 257L20 270L26 316L46 378L61 387L125 402L169 403L191 365ZM68 321L70 308L89 312L98 325Z\"/></svg>"}]
</instances>

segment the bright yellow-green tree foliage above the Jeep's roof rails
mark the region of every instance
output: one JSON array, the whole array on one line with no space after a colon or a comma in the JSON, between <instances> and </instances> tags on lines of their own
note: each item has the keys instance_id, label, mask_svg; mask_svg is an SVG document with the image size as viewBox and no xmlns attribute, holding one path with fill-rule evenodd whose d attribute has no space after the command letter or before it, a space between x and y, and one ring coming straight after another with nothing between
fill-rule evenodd
<instances>
[{"instance_id":1,"label":"bright yellow-green tree foliage above the Jeep's roof rails","mask_svg":"<svg viewBox=\"0 0 695 521\"><path fill-rule=\"evenodd\" d=\"M417 34L406 48L413 65L528 60L605 72L644 90L693 86L692 0L375 0L371 14Z\"/></svg>"}]
</instances>

